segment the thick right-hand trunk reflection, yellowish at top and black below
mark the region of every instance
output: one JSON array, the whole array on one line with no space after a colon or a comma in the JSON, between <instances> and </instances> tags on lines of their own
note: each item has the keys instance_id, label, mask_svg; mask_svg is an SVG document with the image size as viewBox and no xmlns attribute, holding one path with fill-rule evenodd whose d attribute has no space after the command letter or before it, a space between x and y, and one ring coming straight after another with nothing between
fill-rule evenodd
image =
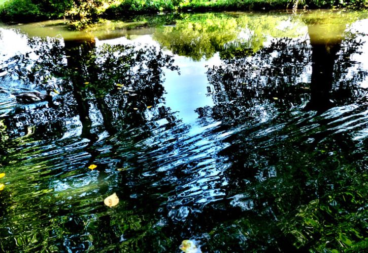
<instances>
[{"instance_id":1,"label":"thick right-hand trunk reflection, yellowish at top and black below","mask_svg":"<svg viewBox=\"0 0 368 253\"><path fill-rule=\"evenodd\" d=\"M346 72L340 68L340 71L334 74L334 69L338 68L344 62L344 67L351 66L352 63L346 61L346 58L350 54L355 53L360 46L359 43L354 41L354 37L347 36L345 41L349 41L349 45L345 47L346 50L342 51L339 57L338 53L341 51L341 43L344 39L346 24L355 20L355 18L352 20L351 15L341 15L337 19L336 15L331 14L327 13L323 19L313 16L309 17L308 15L304 18L304 22L308 25L308 34L312 46L311 98L306 109L324 111L333 107L334 102L330 98L333 82L338 82L339 78L341 78L341 73ZM349 34L347 33L347 35ZM337 62L339 58L340 62ZM334 75L336 76L335 80ZM355 78L354 80L356 81ZM344 78L343 82L347 82L347 79ZM341 89L338 86L336 88L338 90ZM338 91L338 93L341 94L342 92Z\"/></svg>"}]
</instances>

